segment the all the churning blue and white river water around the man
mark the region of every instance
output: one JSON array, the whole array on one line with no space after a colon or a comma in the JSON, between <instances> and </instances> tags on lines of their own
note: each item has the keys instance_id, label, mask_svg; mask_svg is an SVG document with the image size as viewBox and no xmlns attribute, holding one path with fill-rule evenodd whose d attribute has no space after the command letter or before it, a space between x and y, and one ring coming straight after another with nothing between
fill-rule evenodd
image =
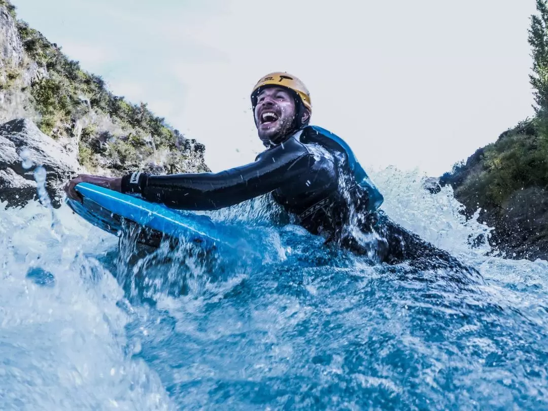
<instances>
[{"instance_id":1,"label":"all the churning blue and white river water around the man","mask_svg":"<svg viewBox=\"0 0 548 411\"><path fill-rule=\"evenodd\" d=\"M370 266L266 198L209 213L249 226L260 259L143 250L66 206L2 206L2 408L548 408L548 264L484 256L489 228L448 187L372 177L392 219L484 282Z\"/></svg>"}]
</instances>

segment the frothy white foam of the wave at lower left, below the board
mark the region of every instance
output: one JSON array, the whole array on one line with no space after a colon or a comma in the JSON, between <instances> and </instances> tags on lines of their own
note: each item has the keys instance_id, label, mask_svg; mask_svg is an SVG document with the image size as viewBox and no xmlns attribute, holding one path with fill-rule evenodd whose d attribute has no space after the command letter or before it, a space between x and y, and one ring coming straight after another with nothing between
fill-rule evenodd
<instances>
[{"instance_id":1,"label":"frothy white foam of the wave at lower left, below the board","mask_svg":"<svg viewBox=\"0 0 548 411\"><path fill-rule=\"evenodd\" d=\"M124 353L123 292L94 258L117 239L66 206L54 214L55 230L37 202L0 210L2 409L169 409L158 376ZM27 279L33 267L54 286Z\"/></svg>"}]
</instances>

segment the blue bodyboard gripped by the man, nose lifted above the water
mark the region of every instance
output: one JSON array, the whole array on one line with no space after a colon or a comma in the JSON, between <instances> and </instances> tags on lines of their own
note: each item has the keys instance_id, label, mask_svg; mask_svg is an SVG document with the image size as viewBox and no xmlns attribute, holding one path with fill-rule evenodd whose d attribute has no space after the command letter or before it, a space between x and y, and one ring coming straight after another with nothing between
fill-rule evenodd
<instances>
[{"instance_id":1,"label":"blue bodyboard gripped by the man, nose lifted above the water","mask_svg":"<svg viewBox=\"0 0 548 411\"><path fill-rule=\"evenodd\" d=\"M83 202L67 198L68 206L100 229L121 235L127 224L143 227L138 242L157 247L162 239L184 238L207 247L242 246L243 233L237 227L218 224L206 215L170 209L163 204L81 182L76 186ZM124 221L126 225L124 226Z\"/></svg>"}]
</instances>

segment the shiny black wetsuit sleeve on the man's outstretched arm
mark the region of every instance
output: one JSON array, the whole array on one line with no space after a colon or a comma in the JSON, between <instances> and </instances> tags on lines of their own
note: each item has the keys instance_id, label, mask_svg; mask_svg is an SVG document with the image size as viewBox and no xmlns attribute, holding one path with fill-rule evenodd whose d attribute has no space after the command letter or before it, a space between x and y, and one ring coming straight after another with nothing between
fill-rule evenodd
<instances>
[{"instance_id":1,"label":"shiny black wetsuit sleeve on the man's outstretched arm","mask_svg":"<svg viewBox=\"0 0 548 411\"><path fill-rule=\"evenodd\" d=\"M172 208L214 210L290 184L313 161L304 146L281 145L261 153L253 163L220 173L133 173L122 179L122 192L139 193L147 201Z\"/></svg>"}]
</instances>

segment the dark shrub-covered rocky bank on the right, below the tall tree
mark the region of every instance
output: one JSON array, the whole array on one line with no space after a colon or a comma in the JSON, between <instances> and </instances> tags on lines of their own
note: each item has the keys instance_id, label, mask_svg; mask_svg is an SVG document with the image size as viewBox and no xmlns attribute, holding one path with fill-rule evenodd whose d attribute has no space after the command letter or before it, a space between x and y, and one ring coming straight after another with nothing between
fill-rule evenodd
<instances>
[{"instance_id":1,"label":"dark shrub-covered rocky bank on the right, below the tall tree","mask_svg":"<svg viewBox=\"0 0 548 411\"><path fill-rule=\"evenodd\" d=\"M481 209L479 218L494 227L495 252L548 260L548 141L537 119L507 130L438 181L453 187L469 215Z\"/></svg>"}]
</instances>

